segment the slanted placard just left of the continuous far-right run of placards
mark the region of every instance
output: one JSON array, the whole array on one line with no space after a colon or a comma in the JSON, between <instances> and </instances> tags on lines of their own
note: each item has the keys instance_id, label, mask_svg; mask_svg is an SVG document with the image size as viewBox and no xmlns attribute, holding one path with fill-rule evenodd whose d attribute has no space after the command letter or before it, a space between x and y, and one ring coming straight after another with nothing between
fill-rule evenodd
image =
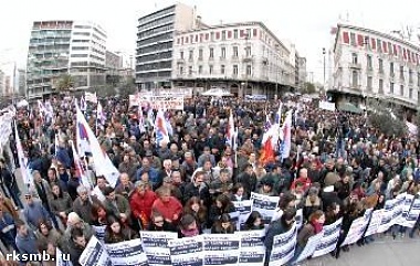
<instances>
[{"instance_id":1,"label":"slanted placard just left of the continuous far-right run of placards","mask_svg":"<svg viewBox=\"0 0 420 266\"><path fill-rule=\"evenodd\" d=\"M322 232L323 237L316 246L315 252L312 255L313 257L324 256L336 248L339 231L342 230L342 223L343 219L339 219L333 224L324 225Z\"/></svg>"}]
</instances>

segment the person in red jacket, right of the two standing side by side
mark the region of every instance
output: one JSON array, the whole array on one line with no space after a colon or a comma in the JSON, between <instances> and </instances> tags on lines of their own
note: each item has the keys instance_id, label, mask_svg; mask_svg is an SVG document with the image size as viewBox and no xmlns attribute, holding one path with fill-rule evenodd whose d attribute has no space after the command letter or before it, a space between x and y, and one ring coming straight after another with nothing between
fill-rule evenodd
<instances>
[{"instance_id":1,"label":"person in red jacket, right of the two standing side by side","mask_svg":"<svg viewBox=\"0 0 420 266\"><path fill-rule=\"evenodd\" d=\"M181 216L182 204L170 195L169 188L161 187L156 193L159 198L155 201L153 211L159 212L168 223L176 224Z\"/></svg>"}]
</instances>

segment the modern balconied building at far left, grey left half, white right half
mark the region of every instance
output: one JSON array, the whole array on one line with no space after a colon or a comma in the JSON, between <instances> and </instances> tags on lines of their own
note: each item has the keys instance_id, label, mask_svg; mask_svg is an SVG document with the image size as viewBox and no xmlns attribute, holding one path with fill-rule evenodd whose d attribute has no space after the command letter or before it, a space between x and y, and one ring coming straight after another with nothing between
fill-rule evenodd
<instances>
[{"instance_id":1,"label":"modern balconied building at far left, grey left half, white right half","mask_svg":"<svg viewBox=\"0 0 420 266\"><path fill-rule=\"evenodd\" d=\"M33 22L27 64L29 98L51 95L66 74L74 89L103 86L106 39L106 32L93 22Z\"/></svg>"}]
</instances>

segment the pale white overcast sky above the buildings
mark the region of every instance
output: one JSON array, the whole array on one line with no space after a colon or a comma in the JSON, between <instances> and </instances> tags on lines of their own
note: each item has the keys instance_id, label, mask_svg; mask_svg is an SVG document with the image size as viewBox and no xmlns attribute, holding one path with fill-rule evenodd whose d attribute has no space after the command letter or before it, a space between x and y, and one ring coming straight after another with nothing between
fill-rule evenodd
<instances>
[{"instance_id":1,"label":"pale white overcast sky above the buildings","mask_svg":"<svg viewBox=\"0 0 420 266\"><path fill-rule=\"evenodd\" d=\"M171 0L13 0L0 8L0 68L17 61L23 66L30 29L35 20L90 20L108 34L111 50L135 53L137 19ZM281 40L296 44L307 57L307 72L323 77L322 47L329 47L330 28L338 19L378 31L418 26L420 2L366 0L182 0L196 6L208 24L262 21Z\"/></svg>"}]
</instances>

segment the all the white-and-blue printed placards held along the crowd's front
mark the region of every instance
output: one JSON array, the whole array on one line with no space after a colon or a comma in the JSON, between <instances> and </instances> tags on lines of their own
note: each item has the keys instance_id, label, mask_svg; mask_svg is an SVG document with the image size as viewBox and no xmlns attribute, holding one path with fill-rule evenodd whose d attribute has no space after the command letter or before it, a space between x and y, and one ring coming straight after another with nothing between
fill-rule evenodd
<instances>
[{"instance_id":1,"label":"all the white-and-blue printed placards held along the crowd's front","mask_svg":"<svg viewBox=\"0 0 420 266\"><path fill-rule=\"evenodd\" d=\"M263 216L273 214L276 204L272 203L275 199L279 198L253 193L250 201L235 203L239 213L238 226L252 210L259 210ZM386 201L381 210L366 210L361 217L353 222L342 246L356 243L364 236L384 233L396 224L412 228L419 214L420 199L407 193L400 194L393 200ZM272 253L267 258L263 243L265 230L238 231L234 234L202 234L186 238L178 238L177 233L172 232L140 231L138 240L104 244L102 238L105 227L97 226L96 236L88 242L80 263L82 266L261 266L265 259L269 259L269 265L284 265L294 256L297 232L302 226L300 220L288 232L274 237ZM338 242L342 222L340 219L325 225L321 233L312 236L297 260L333 252ZM65 265L65 262L60 262L57 265Z\"/></svg>"}]
</instances>

